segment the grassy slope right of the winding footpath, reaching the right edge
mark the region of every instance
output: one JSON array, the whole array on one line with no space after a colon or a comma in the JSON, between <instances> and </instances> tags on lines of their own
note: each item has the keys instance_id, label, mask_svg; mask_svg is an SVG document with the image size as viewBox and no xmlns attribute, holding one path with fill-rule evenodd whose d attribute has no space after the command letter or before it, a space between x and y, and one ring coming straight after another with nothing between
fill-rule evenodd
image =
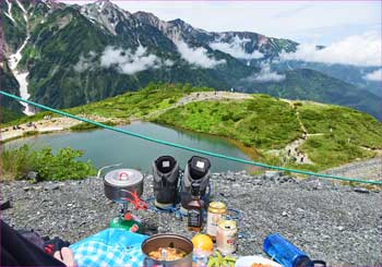
<instances>
[{"instance_id":1,"label":"grassy slope right of the winding footpath, reaching the right edge","mask_svg":"<svg viewBox=\"0 0 382 267\"><path fill-rule=\"evenodd\" d=\"M382 148L382 124L371 116L330 105L305 104L298 110L309 133L323 133L310 136L301 148L319 166L334 167L373 156L362 147Z\"/></svg>"}]
</instances>

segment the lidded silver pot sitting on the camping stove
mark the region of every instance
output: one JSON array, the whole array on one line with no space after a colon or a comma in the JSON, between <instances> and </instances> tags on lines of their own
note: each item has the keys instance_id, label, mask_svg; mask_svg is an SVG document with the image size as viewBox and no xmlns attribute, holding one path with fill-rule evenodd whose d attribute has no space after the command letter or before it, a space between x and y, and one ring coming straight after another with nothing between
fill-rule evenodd
<instances>
[{"instance_id":1,"label":"lidded silver pot sitting on the camping stove","mask_svg":"<svg viewBox=\"0 0 382 267\"><path fill-rule=\"evenodd\" d=\"M143 174L133 169L117 169L104 177L105 195L110 201L126 203L121 198L131 198L129 192L136 191L138 196L143 194Z\"/></svg>"}]
</instances>

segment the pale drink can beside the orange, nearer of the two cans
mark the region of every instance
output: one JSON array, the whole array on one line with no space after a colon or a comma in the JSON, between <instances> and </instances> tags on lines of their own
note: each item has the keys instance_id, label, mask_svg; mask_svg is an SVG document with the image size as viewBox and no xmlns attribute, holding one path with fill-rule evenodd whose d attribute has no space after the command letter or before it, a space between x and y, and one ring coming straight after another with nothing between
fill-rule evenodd
<instances>
[{"instance_id":1,"label":"pale drink can beside the orange, nearer of the two cans","mask_svg":"<svg viewBox=\"0 0 382 267\"><path fill-rule=\"evenodd\" d=\"M217 224L216 248L223 254L232 254L237 248L238 228L235 220L220 220Z\"/></svg>"}]
</instances>

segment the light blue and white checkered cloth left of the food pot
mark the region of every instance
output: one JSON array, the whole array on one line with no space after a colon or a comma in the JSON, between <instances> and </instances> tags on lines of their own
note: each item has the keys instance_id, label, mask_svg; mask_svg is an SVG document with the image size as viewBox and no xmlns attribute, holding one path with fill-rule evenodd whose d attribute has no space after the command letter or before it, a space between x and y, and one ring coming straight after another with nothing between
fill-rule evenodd
<instances>
[{"instance_id":1,"label":"light blue and white checkered cloth left of the food pot","mask_svg":"<svg viewBox=\"0 0 382 267\"><path fill-rule=\"evenodd\" d=\"M109 228L72 244L77 266L131 266L143 264L141 244L146 235Z\"/></svg>"}]
</instances>

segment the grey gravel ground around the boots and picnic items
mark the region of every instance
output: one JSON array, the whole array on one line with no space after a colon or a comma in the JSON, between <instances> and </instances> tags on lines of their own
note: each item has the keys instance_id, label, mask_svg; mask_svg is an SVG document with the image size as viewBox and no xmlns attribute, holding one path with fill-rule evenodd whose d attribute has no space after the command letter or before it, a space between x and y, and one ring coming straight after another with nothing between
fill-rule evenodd
<instances>
[{"instance_id":1,"label":"grey gravel ground around the boots and picnic items","mask_svg":"<svg viewBox=\"0 0 382 267\"><path fill-rule=\"evenodd\" d=\"M382 192L275 173L249 177L246 172L214 173L212 189L213 199L243 215L238 255L263 254L264 238L278 232L329 266L382 265ZM150 175L144 190L143 198L153 195ZM120 208L104 196L103 182L95 178L2 183L1 196L11 204L2 211L4 221L70 242L105 229ZM174 214L135 214L157 226L159 232L191 236L184 221Z\"/></svg>"}]
</instances>

